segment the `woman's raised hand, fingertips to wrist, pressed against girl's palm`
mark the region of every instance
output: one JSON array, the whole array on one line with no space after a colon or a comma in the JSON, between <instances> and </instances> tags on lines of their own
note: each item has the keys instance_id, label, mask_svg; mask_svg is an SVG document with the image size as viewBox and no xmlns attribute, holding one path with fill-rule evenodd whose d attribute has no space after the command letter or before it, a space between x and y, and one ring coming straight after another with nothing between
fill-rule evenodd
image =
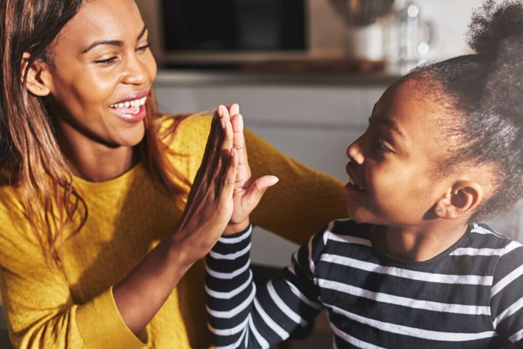
<instances>
[{"instance_id":1,"label":"woman's raised hand, fingertips to wrist, pressed against girl's palm","mask_svg":"<svg viewBox=\"0 0 523 349\"><path fill-rule=\"evenodd\" d=\"M173 236L175 243L187 247L191 260L205 256L231 220L237 154L229 112L219 107L214 112L203 160Z\"/></svg>"}]
</instances>

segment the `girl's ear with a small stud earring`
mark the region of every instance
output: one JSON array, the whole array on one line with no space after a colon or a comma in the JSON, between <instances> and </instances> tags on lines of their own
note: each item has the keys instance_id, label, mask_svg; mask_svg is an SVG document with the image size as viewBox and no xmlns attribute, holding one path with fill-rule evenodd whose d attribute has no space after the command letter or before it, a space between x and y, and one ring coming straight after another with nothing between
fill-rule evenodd
<instances>
[{"instance_id":1,"label":"girl's ear with a small stud earring","mask_svg":"<svg viewBox=\"0 0 523 349\"><path fill-rule=\"evenodd\" d=\"M473 181L459 180L434 206L436 217L455 219L470 215L483 200L483 187Z\"/></svg>"}]
</instances>

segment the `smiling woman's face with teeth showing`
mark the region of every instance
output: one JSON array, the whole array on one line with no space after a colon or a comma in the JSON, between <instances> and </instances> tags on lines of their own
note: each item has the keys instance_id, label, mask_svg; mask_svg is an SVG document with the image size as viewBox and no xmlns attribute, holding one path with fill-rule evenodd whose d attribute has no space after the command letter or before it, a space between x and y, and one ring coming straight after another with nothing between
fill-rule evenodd
<instances>
[{"instance_id":1,"label":"smiling woman's face with teeth showing","mask_svg":"<svg viewBox=\"0 0 523 349\"><path fill-rule=\"evenodd\" d=\"M134 0L86 1L55 41L50 99L58 129L111 148L144 136L145 99L156 76Z\"/></svg>"}]
</instances>

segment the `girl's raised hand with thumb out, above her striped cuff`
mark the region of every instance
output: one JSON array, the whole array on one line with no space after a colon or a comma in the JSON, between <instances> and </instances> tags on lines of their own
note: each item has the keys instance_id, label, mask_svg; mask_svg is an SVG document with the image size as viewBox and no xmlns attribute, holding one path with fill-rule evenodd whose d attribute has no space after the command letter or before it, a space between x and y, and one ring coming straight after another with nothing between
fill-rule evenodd
<instances>
[{"instance_id":1,"label":"girl's raised hand with thumb out, above her striped cuff","mask_svg":"<svg viewBox=\"0 0 523 349\"><path fill-rule=\"evenodd\" d=\"M232 104L229 108L218 106L222 110L224 118L231 120L234 132L233 149L238 157L236 180L234 182L234 211L224 234L233 234L247 228L249 215L258 205L265 191L278 182L276 176L262 176L251 181L251 168L247 161L247 149L243 134L243 117L240 114L240 106Z\"/></svg>"}]
</instances>

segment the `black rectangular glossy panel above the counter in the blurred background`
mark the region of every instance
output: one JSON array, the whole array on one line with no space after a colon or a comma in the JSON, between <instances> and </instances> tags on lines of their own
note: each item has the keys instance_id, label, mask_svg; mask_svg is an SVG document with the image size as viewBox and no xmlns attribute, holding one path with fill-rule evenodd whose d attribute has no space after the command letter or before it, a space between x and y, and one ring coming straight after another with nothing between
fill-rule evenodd
<instances>
[{"instance_id":1,"label":"black rectangular glossy panel above the counter in the blurred background","mask_svg":"<svg viewBox=\"0 0 523 349\"><path fill-rule=\"evenodd\" d=\"M163 0L167 51L305 51L306 0Z\"/></svg>"}]
</instances>

